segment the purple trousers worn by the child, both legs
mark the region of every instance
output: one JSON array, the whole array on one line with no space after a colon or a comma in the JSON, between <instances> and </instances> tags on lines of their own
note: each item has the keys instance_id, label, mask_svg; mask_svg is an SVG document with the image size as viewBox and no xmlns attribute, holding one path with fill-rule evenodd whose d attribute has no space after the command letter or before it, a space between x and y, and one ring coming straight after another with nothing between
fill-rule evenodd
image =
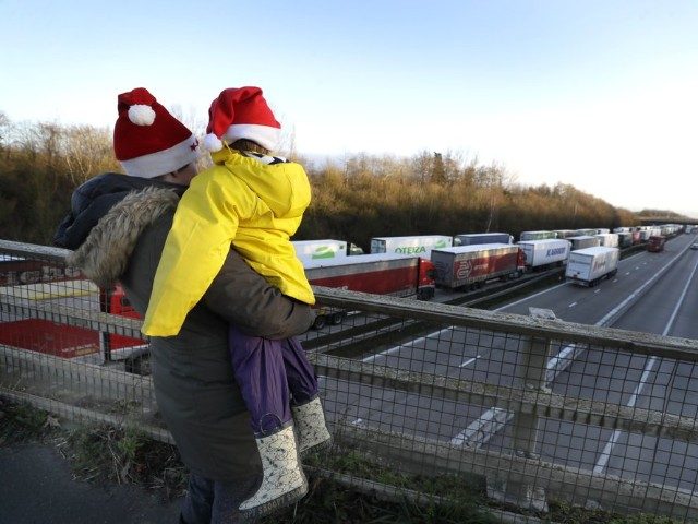
<instances>
[{"instance_id":1,"label":"purple trousers worn by the child, both legs","mask_svg":"<svg viewBox=\"0 0 698 524\"><path fill-rule=\"evenodd\" d=\"M228 344L255 437L287 427L292 418L290 405L317 396L317 377L296 337L273 341L245 335L231 325Z\"/></svg>"}]
</instances>

